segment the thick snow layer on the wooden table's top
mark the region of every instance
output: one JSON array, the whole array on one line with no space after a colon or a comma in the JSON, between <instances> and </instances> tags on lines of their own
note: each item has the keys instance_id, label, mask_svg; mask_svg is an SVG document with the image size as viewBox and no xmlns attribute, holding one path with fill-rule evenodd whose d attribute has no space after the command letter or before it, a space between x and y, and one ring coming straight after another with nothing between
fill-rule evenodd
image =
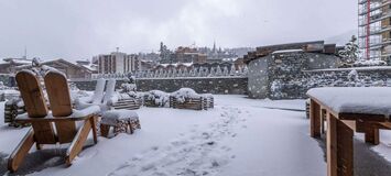
<instances>
[{"instance_id":1,"label":"thick snow layer on the wooden table's top","mask_svg":"<svg viewBox=\"0 0 391 176\"><path fill-rule=\"evenodd\" d=\"M333 87L313 88L307 95L315 97L337 113L391 114L390 87Z\"/></svg>"}]
</instances>

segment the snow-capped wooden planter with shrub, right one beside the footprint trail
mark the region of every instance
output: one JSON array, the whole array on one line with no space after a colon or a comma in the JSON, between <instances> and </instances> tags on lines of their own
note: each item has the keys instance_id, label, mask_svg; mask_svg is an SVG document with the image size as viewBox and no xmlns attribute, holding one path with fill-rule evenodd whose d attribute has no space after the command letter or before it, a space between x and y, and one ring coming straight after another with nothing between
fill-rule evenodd
<instances>
[{"instance_id":1,"label":"snow-capped wooden planter with shrub, right one beside the footprint trail","mask_svg":"<svg viewBox=\"0 0 391 176\"><path fill-rule=\"evenodd\" d=\"M181 88L170 96L170 107L177 109L207 110L214 108L211 95L198 95L191 88Z\"/></svg>"}]
</instances>

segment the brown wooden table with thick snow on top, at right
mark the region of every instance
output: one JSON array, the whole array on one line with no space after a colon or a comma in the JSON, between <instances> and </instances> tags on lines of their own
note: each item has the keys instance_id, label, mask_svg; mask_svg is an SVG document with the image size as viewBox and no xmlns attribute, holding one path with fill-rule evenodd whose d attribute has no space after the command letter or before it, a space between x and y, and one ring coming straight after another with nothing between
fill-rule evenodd
<instances>
[{"instance_id":1,"label":"brown wooden table with thick snow on top, at right","mask_svg":"<svg viewBox=\"0 0 391 176\"><path fill-rule=\"evenodd\" d=\"M354 175L354 132L366 142L379 144L379 129L391 129L391 88L314 88L311 98L311 136L321 136L327 119L327 172L329 176Z\"/></svg>"}]
</instances>

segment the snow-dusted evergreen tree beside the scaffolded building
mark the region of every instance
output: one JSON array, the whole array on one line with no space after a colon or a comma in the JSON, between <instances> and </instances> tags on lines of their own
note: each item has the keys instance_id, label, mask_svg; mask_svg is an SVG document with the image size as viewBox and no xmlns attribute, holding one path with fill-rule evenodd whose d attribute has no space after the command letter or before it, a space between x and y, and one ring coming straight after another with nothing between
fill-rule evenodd
<instances>
[{"instance_id":1,"label":"snow-dusted evergreen tree beside the scaffolded building","mask_svg":"<svg viewBox=\"0 0 391 176\"><path fill-rule=\"evenodd\" d=\"M351 36L351 40L345 45L344 50L339 51L341 62L346 64L355 63L358 59L359 47L357 45L357 37Z\"/></svg>"}]
</instances>

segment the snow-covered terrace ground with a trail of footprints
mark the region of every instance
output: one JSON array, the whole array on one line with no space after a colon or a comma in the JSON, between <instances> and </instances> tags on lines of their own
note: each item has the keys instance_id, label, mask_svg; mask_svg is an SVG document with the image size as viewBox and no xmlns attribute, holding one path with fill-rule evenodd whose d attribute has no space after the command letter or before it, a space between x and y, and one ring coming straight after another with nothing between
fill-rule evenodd
<instances>
[{"instance_id":1,"label":"snow-covered terrace ground with a trail of footprints","mask_svg":"<svg viewBox=\"0 0 391 176\"><path fill-rule=\"evenodd\" d=\"M326 175L322 148L308 135L304 100L215 96L215 105L208 111L141 108L142 129L133 135L99 138L70 167L31 175ZM26 128L8 128L2 114L0 108L0 153L10 154ZM391 154L391 146L376 151Z\"/></svg>"}]
</instances>

